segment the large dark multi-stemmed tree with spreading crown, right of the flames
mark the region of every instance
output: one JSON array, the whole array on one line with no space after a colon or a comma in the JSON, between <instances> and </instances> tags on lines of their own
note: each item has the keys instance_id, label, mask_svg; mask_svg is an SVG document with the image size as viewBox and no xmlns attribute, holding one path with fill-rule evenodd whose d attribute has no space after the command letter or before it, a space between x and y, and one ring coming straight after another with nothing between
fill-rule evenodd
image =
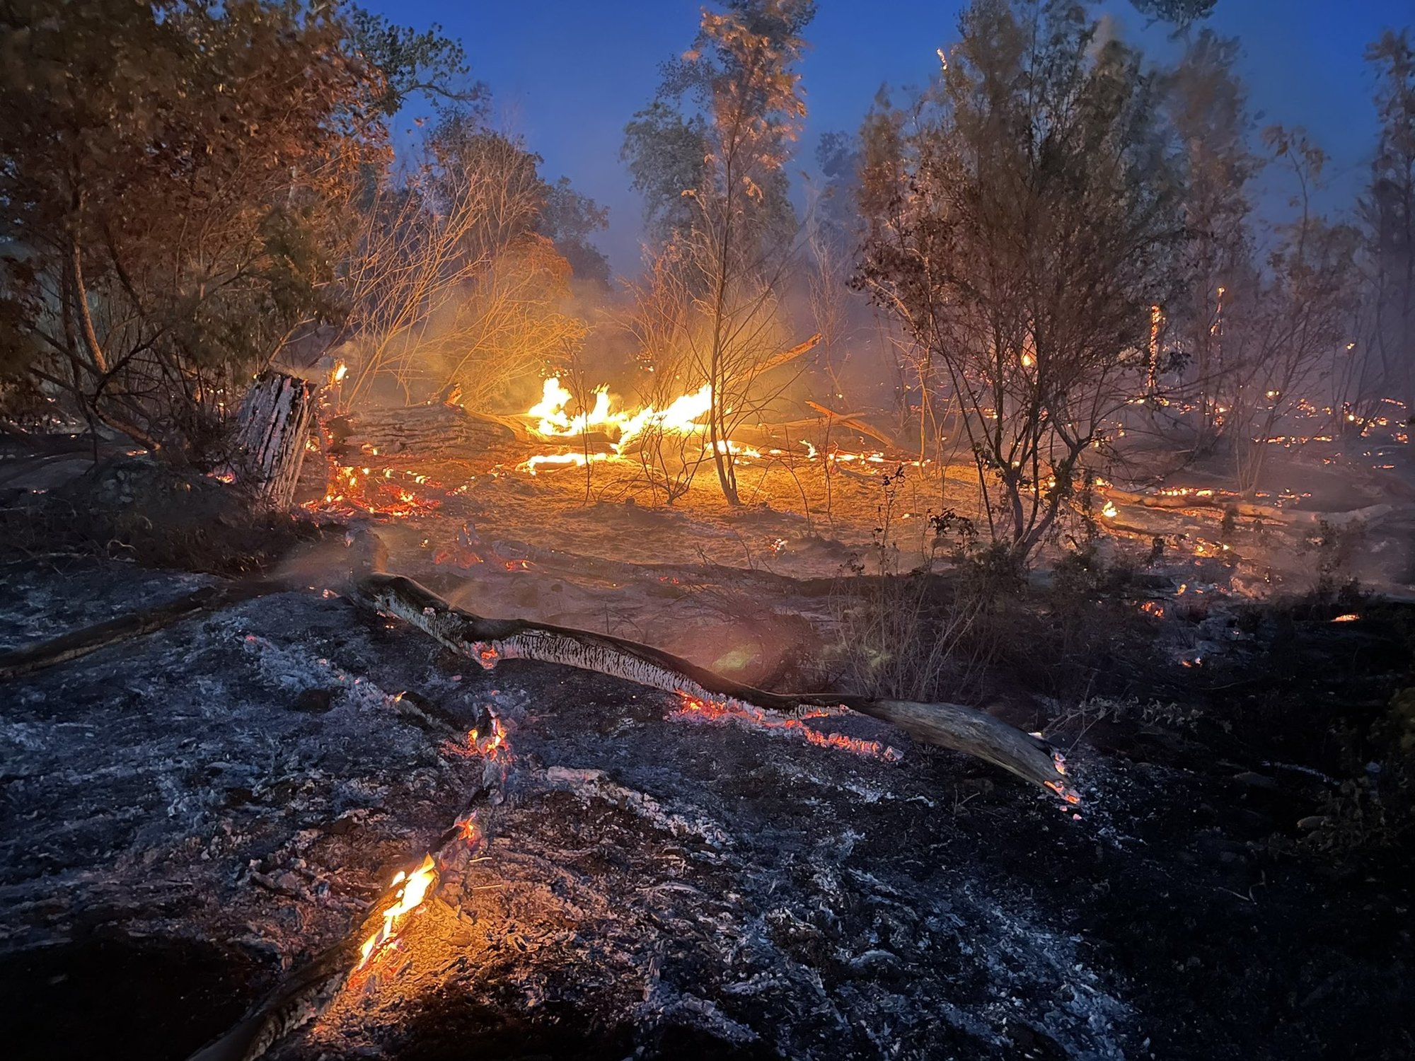
<instances>
[{"instance_id":1,"label":"large dark multi-stemmed tree with spreading crown, right of the flames","mask_svg":"<svg viewBox=\"0 0 1415 1061\"><path fill-rule=\"evenodd\" d=\"M1143 385L1180 233L1156 103L1078 6L978 0L942 81L866 127L860 283L947 372L1019 563Z\"/></svg>"}]
</instances>

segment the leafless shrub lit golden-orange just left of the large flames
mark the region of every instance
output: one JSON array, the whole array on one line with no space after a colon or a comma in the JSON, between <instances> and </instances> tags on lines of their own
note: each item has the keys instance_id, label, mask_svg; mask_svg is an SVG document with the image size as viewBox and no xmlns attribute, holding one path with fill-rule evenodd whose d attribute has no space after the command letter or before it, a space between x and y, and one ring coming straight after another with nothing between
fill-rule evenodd
<instances>
[{"instance_id":1,"label":"leafless shrub lit golden-orange just left of the large flames","mask_svg":"<svg viewBox=\"0 0 1415 1061\"><path fill-rule=\"evenodd\" d=\"M456 386L485 406L583 337L563 308L569 263L536 232L536 161L505 136L444 123L417 166L365 192L344 274L358 351L347 402L383 381L408 400Z\"/></svg>"}]
</instances>

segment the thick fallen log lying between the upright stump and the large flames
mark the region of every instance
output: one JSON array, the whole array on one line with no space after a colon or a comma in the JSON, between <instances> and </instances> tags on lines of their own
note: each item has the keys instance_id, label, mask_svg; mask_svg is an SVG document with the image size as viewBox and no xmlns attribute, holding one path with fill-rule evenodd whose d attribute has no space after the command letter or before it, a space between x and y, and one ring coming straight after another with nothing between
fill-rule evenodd
<instances>
[{"instance_id":1,"label":"thick fallen log lying between the upright stump and the large flames","mask_svg":"<svg viewBox=\"0 0 1415 1061\"><path fill-rule=\"evenodd\" d=\"M331 456L341 464L383 464L416 458L419 464L466 460L528 436L494 416L470 413L444 402L368 409L330 420Z\"/></svg>"}]
</instances>

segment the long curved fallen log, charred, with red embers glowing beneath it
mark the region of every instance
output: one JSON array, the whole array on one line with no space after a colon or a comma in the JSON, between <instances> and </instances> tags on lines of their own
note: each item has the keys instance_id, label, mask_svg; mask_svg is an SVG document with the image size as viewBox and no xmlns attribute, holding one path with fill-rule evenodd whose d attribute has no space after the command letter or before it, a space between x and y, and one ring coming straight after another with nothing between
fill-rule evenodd
<instances>
[{"instance_id":1,"label":"long curved fallen log, charred, with red embers glowing beneath it","mask_svg":"<svg viewBox=\"0 0 1415 1061\"><path fill-rule=\"evenodd\" d=\"M1061 757L1050 744L962 705L874 700L835 693L770 693L634 641L525 620L481 618L454 608L410 579L393 574L375 573L359 579L355 596L487 668L501 659L538 659L724 706L744 705L777 712L848 707L897 726L916 740L1002 767L1056 792L1068 804L1080 802L1067 784Z\"/></svg>"}]
</instances>

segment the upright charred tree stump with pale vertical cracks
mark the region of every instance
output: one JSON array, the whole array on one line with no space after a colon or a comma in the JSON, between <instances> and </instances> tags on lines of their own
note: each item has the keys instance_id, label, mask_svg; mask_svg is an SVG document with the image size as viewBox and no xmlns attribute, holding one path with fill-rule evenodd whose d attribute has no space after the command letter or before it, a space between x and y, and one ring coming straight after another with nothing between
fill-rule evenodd
<instances>
[{"instance_id":1,"label":"upright charred tree stump with pale vertical cracks","mask_svg":"<svg viewBox=\"0 0 1415 1061\"><path fill-rule=\"evenodd\" d=\"M304 443L314 420L314 383L284 372L262 375L241 405L236 475L275 508L294 501Z\"/></svg>"}]
</instances>

